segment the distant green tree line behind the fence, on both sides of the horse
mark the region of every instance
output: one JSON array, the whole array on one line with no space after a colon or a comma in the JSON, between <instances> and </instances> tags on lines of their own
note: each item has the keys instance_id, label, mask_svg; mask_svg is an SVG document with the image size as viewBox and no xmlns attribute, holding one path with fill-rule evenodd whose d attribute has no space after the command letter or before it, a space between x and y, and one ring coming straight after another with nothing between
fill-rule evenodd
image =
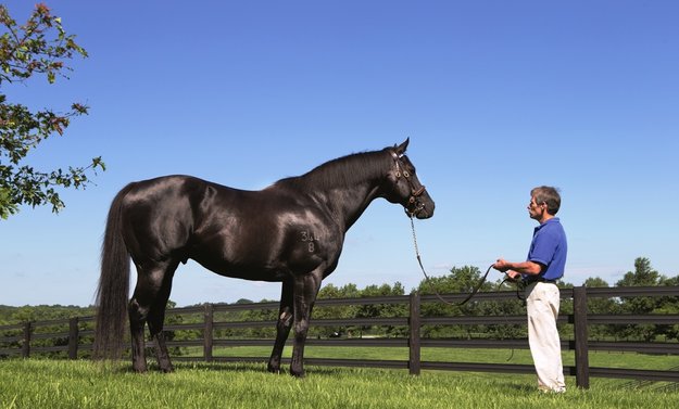
<instances>
[{"instance_id":1,"label":"distant green tree line behind the fence, on both sides of the horse","mask_svg":"<svg viewBox=\"0 0 679 409\"><path fill-rule=\"evenodd\" d=\"M478 285L482 278L482 272L477 267L464 266L453 267L450 273L442 277L433 277L430 280L423 280L412 292L420 294L448 293L469 293ZM559 282L561 287L571 287L568 282ZM609 286L601 278L590 278L584 282L588 287ZM652 268L647 258L640 257L634 260L634 270L628 271L621 280L614 286L661 286L679 285L679 277L667 278ZM504 282L502 279L487 281L480 289L481 292L514 290L514 284ZM355 284L336 286L327 284L320 289L318 297L323 298L360 298L374 296L406 295L403 284L368 285L359 289ZM263 299L262 302L267 302ZM235 304L250 304L250 299L239 299ZM175 307L172 301L168 308ZM406 305L376 304L376 305L351 305L351 306L316 306L313 312L313 320L342 319L342 318L388 318L407 317ZM647 314L679 314L679 296L664 297L619 297L619 298L590 298L588 301L590 314L604 315L647 315ZM0 306L0 325L27 321L46 321L65 319L72 317L92 316L96 309L93 306L25 306L7 307ZM573 302L562 301L562 314L573 314ZM222 321L275 321L278 307L254 310L235 310L215 312L214 320ZM518 299L507 301L475 301L474 298L464 306L448 305L440 302L425 303L422 305L422 315L426 317L450 317L450 316L521 316L526 314L524 303ZM197 315L172 315L166 319L166 325L177 323L202 322L202 314ZM313 325L310 330L312 337L361 337L361 336L405 336L406 327L376 327L376 325L354 325L327 328ZM561 325L564 336L570 336L569 324ZM63 331L50 330L50 331ZM679 341L679 324L605 324L592 325L589 330L590 337L595 340L611 341ZM187 341L202 337L199 330L168 331L171 340ZM261 338L275 336L274 325L255 325L244 329L218 329L215 332L216 338ZM424 337L451 337L451 338L520 338L526 337L525 325L518 324L478 324L478 325L425 325L422 329ZM1 341L1 338L0 338ZM49 346L50 340L43 340ZM56 340L53 345L65 345L67 340ZM176 349L175 353L181 353Z\"/></svg>"}]
</instances>

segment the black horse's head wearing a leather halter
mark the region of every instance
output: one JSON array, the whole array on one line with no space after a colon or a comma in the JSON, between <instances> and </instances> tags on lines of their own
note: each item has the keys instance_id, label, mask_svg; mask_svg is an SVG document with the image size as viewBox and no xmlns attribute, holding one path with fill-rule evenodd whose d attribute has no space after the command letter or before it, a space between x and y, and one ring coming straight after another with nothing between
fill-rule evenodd
<instances>
[{"instance_id":1,"label":"black horse's head wearing a leather halter","mask_svg":"<svg viewBox=\"0 0 679 409\"><path fill-rule=\"evenodd\" d=\"M388 149L393 159L393 167L389 172L389 189L386 199L391 203L400 203L408 216L418 219L428 219L433 216L433 200L425 186L417 179L415 166L405 156L405 149L410 138L394 148Z\"/></svg>"}]
</instances>

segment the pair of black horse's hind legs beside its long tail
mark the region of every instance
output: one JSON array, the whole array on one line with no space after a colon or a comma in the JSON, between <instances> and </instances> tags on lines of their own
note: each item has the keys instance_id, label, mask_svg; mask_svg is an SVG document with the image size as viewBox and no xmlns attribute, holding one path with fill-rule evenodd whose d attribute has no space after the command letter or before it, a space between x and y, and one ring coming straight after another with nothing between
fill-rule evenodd
<instances>
[{"instance_id":1,"label":"pair of black horse's hind legs beside its long tail","mask_svg":"<svg viewBox=\"0 0 679 409\"><path fill-rule=\"evenodd\" d=\"M128 305L133 369L137 372L147 371L146 342L143 337L143 329L147 321L149 322L151 335L155 340L156 350L162 350L162 353L159 353L159 357L167 357L167 348L164 340L159 342L156 335L159 333L162 334L163 319L165 318L165 304L169 296L172 276L176 266L176 264L174 264L174 266L163 265L150 269L137 267L137 286L135 287L135 293ZM159 310L161 310L159 308L160 305L162 305L161 312L159 312ZM172 368L167 367L167 365L169 365L168 357L165 363L161 363L160 361L159 358L159 365L161 365L162 370L172 370ZM165 365L165 367L163 367L163 365Z\"/></svg>"}]
</instances>

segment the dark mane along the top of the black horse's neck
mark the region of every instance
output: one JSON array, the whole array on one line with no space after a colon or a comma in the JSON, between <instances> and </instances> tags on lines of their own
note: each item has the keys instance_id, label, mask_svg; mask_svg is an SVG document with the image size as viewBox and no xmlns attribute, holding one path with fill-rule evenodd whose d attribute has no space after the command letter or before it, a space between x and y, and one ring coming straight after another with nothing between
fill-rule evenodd
<instances>
[{"instance_id":1,"label":"dark mane along the top of the black horse's neck","mask_svg":"<svg viewBox=\"0 0 679 409\"><path fill-rule=\"evenodd\" d=\"M365 180L383 175L385 148L381 151L354 153L318 165L302 176L280 179L274 187L301 190L331 189L355 186Z\"/></svg>"}]
</instances>

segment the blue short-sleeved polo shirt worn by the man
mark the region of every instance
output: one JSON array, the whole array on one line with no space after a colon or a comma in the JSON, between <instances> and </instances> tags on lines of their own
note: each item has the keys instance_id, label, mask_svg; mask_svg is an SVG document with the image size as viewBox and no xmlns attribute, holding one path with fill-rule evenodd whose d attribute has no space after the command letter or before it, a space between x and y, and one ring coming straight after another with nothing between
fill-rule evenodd
<instances>
[{"instance_id":1,"label":"blue short-sleeved polo shirt worn by the man","mask_svg":"<svg viewBox=\"0 0 679 409\"><path fill-rule=\"evenodd\" d=\"M545 266L540 277L556 280L564 276L568 243L558 217L538 226L532 233L528 260Z\"/></svg>"}]
</instances>

